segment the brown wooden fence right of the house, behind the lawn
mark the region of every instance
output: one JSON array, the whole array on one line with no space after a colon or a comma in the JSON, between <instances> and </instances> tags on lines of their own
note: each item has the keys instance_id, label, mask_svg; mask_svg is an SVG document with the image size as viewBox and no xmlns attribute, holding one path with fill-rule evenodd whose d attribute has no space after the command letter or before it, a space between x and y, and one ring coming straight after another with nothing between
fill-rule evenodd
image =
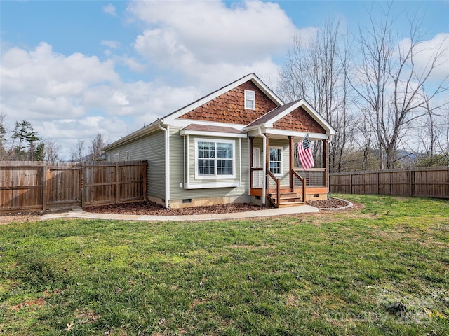
<instances>
[{"instance_id":1,"label":"brown wooden fence right of the house, behind the lawn","mask_svg":"<svg viewBox=\"0 0 449 336\"><path fill-rule=\"evenodd\" d=\"M449 167L329 174L330 193L449 198Z\"/></svg>"}]
</instances>

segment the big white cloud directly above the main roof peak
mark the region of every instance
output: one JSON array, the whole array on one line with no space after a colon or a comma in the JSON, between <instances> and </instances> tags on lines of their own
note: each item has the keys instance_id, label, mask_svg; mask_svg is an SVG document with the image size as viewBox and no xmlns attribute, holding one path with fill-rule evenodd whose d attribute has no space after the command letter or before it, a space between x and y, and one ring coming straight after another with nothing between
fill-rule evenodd
<instances>
[{"instance_id":1,"label":"big white cloud directly above the main roof peak","mask_svg":"<svg viewBox=\"0 0 449 336\"><path fill-rule=\"evenodd\" d=\"M133 1L128 10L146 25L135 50L201 91L260 70L276 78L273 58L298 32L277 3L263 1Z\"/></svg>"}]
</instances>

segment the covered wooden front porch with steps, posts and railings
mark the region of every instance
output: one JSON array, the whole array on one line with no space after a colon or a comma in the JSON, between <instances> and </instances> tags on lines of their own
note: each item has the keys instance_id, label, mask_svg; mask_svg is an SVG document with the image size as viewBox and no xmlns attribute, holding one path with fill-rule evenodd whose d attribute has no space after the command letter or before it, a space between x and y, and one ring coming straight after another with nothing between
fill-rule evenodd
<instances>
[{"instance_id":1,"label":"covered wooden front porch with steps, posts and railings","mask_svg":"<svg viewBox=\"0 0 449 336\"><path fill-rule=\"evenodd\" d=\"M323 142L323 155L320 155L323 162L316 162L316 168L304 170L295 160L295 147L307 133L295 133L250 134L249 195L252 202L254 199L267 207L291 207L328 197L328 136L310 134L311 141ZM280 148L286 149L279 151Z\"/></svg>"}]
</instances>

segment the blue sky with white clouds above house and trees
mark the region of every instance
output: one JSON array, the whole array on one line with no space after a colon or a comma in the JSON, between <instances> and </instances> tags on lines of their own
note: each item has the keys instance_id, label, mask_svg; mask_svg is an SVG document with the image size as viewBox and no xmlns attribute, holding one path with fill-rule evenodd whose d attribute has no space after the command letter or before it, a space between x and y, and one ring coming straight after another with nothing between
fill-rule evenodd
<instances>
[{"instance_id":1,"label":"blue sky with white clouds above house and trees","mask_svg":"<svg viewBox=\"0 0 449 336\"><path fill-rule=\"evenodd\" d=\"M376 8L385 2L375 2ZM137 130L250 72L269 86L293 34L326 18L350 31L370 1L0 1L0 112L29 120L61 154ZM449 1L396 1L449 35ZM273 87L275 88L275 87Z\"/></svg>"}]
</instances>

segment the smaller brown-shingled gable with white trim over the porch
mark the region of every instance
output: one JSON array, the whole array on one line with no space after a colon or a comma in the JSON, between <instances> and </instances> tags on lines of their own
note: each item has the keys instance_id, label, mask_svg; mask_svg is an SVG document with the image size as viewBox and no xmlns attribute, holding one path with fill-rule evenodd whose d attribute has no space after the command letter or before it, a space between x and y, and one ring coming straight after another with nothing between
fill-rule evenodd
<instances>
[{"instance_id":1,"label":"smaller brown-shingled gable with white trim over the porch","mask_svg":"<svg viewBox=\"0 0 449 336\"><path fill-rule=\"evenodd\" d=\"M311 132L334 135L335 130L304 99L276 107L264 116L254 120L244 130L257 127L274 130L290 130L295 132Z\"/></svg>"}]
</instances>

